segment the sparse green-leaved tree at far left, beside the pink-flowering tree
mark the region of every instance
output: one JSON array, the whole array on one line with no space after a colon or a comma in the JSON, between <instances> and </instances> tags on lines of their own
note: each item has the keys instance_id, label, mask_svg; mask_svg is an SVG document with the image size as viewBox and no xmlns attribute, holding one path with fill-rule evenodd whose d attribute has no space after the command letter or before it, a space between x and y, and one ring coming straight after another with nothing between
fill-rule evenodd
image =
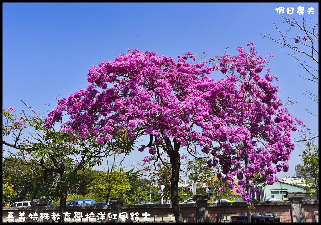
<instances>
[{"instance_id":1,"label":"sparse green-leaved tree at far left, beside the pink-flowering tree","mask_svg":"<svg viewBox=\"0 0 321 225\"><path fill-rule=\"evenodd\" d=\"M29 106L28 106L29 107ZM76 132L44 126L43 119L34 110L32 116L13 114L9 107L3 111L3 137L11 136L4 156L28 166L39 180L46 183L39 197L60 199L59 214L65 212L67 190L79 186L83 180L78 173L86 167L101 165L101 159L117 154L127 155L133 149L133 142L126 135L117 135L116 140L100 144L94 138L80 138ZM115 150L117 149L117 150ZM63 222L63 216L60 218Z\"/></svg>"}]
</instances>

